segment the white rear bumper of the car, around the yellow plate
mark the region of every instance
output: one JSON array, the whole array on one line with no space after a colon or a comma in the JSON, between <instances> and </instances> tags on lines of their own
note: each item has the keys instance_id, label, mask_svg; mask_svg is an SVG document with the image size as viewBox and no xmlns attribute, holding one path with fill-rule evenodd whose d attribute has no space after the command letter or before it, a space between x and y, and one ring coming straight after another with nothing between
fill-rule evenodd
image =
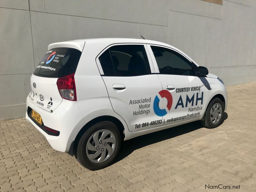
<instances>
[{"instance_id":1,"label":"white rear bumper of the car, around the yellow plate","mask_svg":"<svg viewBox=\"0 0 256 192\"><path fill-rule=\"evenodd\" d=\"M28 116L28 111L26 111L26 120L44 135L53 149L68 152L77 133L85 125L84 117L77 106L77 102L63 100L52 113L36 106L29 99L27 99L27 110L28 107L40 114L45 126L59 131L60 135L52 136L44 132L42 127Z\"/></svg>"}]
</instances>

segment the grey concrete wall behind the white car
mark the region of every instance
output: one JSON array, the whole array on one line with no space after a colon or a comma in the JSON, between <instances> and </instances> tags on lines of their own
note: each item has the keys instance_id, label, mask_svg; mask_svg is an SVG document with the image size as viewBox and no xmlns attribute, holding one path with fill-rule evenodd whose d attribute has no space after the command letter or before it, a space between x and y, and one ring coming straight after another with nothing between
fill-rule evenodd
<instances>
[{"instance_id":1,"label":"grey concrete wall behind the white car","mask_svg":"<svg viewBox=\"0 0 256 192\"><path fill-rule=\"evenodd\" d=\"M256 2L1 0L0 119L25 116L29 78L53 42L97 37L162 41L227 85L256 81Z\"/></svg>"}]
</instances>

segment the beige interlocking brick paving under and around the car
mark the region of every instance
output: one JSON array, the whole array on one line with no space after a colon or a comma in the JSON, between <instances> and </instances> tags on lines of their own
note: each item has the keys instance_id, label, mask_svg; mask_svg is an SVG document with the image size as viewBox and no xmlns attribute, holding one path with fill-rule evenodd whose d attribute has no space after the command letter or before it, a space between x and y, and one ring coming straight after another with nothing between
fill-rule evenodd
<instances>
[{"instance_id":1,"label":"beige interlocking brick paving under and around the car","mask_svg":"<svg viewBox=\"0 0 256 192\"><path fill-rule=\"evenodd\" d=\"M126 141L116 163L99 171L53 150L24 118L0 121L0 190L255 192L255 95L256 83L230 86L220 127L194 122Z\"/></svg>"}]
</instances>

